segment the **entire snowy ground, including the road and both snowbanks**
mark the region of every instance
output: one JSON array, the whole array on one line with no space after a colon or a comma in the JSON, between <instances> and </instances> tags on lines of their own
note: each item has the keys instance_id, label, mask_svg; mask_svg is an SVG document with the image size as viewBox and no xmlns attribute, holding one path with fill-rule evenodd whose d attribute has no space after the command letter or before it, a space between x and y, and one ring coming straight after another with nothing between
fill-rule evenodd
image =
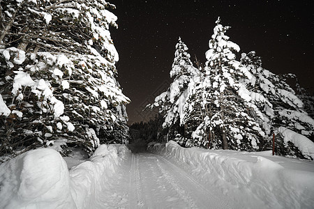
<instances>
[{"instance_id":1,"label":"entire snowy ground, including the road and both snowbanks","mask_svg":"<svg viewBox=\"0 0 314 209\"><path fill-rule=\"evenodd\" d=\"M0 164L0 208L313 208L314 163L269 152L102 145Z\"/></svg>"}]
</instances>

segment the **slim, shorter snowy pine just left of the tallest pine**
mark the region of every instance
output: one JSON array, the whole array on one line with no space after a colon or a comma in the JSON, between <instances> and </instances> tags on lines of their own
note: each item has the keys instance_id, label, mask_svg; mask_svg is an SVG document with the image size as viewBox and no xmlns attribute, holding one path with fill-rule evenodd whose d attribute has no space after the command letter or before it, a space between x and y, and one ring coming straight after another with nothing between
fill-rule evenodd
<instances>
[{"instance_id":1,"label":"slim, shorter snowy pine just left of the tallest pine","mask_svg":"<svg viewBox=\"0 0 314 209\"><path fill-rule=\"evenodd\" d=\"M174 78L167 91L155 98L154 104L149 107L158 107L160 114L165 117L164 128L169 128L170 137L177 133L184 134L184 104L190 79L199 73L190 61L188 47L179 38L174 52L174 61L170 77Z\"/></svg>"}]
</instances>

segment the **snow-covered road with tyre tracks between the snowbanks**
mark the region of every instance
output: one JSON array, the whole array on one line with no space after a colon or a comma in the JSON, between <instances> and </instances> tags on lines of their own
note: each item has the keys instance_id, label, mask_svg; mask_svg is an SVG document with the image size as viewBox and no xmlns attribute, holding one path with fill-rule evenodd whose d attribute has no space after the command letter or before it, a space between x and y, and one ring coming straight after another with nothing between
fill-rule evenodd
<instances>
[{"instance_id":1,"label":"snow-covered road with tyre tracks between the snowbanks","mask_svg":"<svg viewBox=\"0 0 314 209\"><path fill-rule=\"evenodd\" d=\"M107 207L230 208L223 196L216 196L214 189L203 187L165 157L133 153L124 163L119 180L107 191Z\"/></svg>"}]
</instances>

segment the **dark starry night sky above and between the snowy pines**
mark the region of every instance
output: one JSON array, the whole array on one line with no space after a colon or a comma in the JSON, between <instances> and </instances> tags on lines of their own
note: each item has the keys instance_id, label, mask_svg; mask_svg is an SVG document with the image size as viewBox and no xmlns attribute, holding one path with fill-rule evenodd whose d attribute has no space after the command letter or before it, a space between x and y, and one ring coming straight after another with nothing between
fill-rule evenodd
<instances>
[{"instance_id":1,"label":"dark starry night sky above and between the snowy pines","mask_svg":"<svg viewBox=\"0 0 314 209\"><path fill-rule=\"evenodd\" d=\"M132 102L129 123L145 121L142 113L165 91L178 37L204 63L204 53L220 16L226 35L262 56L263 67L276 74L294 73L301 86L314 91L314 1L110 0L117 6L119 29L111 29L120 61L118 81ZM240 52L240 53L241 53Z\"/></svg>"}]
</instances>

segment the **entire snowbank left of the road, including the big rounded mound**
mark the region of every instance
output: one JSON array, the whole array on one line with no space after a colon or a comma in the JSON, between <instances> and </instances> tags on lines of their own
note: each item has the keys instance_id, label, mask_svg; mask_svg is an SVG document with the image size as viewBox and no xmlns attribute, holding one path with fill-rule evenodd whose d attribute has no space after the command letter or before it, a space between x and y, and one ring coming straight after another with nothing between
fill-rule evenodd
<instances>
[{"instance_id":1,"label":"entire snowbank left of the road, including the big rounded mound","mask_svg":"<svg viewBox=\"0 0 314 209\"><path fill-rule=\"evenodd\" d=\"M70 171L49 148L19 155L0 165L0 208L99 208L96 198L128 152L124 145L101 145Z\"/></svg>"}]
</instances>

